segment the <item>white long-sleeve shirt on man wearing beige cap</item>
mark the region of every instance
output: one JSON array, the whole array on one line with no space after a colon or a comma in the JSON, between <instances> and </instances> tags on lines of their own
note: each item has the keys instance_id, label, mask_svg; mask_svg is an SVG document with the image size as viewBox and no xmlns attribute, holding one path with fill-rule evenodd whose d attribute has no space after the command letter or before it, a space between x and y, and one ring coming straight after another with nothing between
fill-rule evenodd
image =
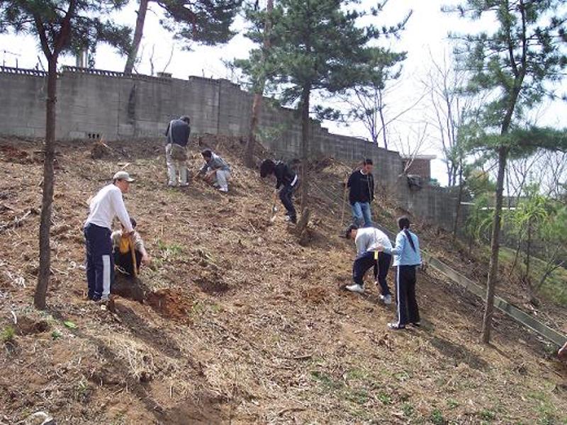
<instances>
[{"instance_id":1,"label":"white long-sleeve shirt on man wearing beige cap","mask_svg":"<svg viewBox=\"0 0 567 425\"><path fill-rule=\"evenodd\" d=\"M120 191L118 186L109 184L101 188L99 193L96 193L91 199L89 208L91 212L84 223L85 226L91 223L112 229L112 220L114 220L114 217L118 217L118 220L120 220L126 232L132 232L130 215L128 215L128 211L126 211L122 191Z\"/></svg>"}]
</instances>

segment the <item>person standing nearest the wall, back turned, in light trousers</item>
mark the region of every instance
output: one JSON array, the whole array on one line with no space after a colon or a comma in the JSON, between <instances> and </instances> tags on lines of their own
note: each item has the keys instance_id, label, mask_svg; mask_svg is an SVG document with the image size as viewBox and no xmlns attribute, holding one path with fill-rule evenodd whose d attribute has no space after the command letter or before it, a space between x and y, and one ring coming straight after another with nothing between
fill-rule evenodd
<instances>
[{"instance_id":1,"label":"person standing nearest the wall, back turned, in light trousers","mask_svg":"<svg viewBox=\"0 0 567 425\"><path fill-rule=\"evenodd\" d=\"M167 162L167 186L177 186L177 171L179 170L179 186L188 186L187 183L187 143L191 135L189 117L184 115L176 120L169 121L165 135L165 159Z\"/></svg>"}]
</instances>

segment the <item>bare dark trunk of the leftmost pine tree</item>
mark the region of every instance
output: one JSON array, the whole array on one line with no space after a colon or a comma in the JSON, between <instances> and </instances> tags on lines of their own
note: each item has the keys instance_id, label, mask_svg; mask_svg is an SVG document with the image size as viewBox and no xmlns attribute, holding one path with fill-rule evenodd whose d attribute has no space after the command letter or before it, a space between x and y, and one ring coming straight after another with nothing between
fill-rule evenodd
<instances>
[{"instance_id":1,"label":"bare dark trunk of the leftmost pine tree","mask_svg":"<svg viewBox=\"0 0 567 425\"><path fill-rule=\"evenodd\" d=\"M47 99L45 101L45 157L43 160L43 196L40 219L40 267L33 304L45 310L45 295L51 271L51 208L53 203L53 161L55 159L55 103L57 102L57 55L48 60Z\"/></svg>"}]
</instances>

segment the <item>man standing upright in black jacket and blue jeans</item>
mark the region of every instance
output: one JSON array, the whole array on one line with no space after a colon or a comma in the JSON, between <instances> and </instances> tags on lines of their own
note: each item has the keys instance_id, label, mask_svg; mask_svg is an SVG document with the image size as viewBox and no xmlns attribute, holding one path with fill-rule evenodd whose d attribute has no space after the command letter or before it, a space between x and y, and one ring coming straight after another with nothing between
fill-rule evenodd
<instances>
[{"instance_id":1,"label":"man standing upright in black jacket and blue jeans","mask_svg":"<svg viewBox=\"0 0 567 425\"><path fill-rule=\"evenodd\" d=\"M372 226L370 203L374 200L374 176L372 159L364 159L361 169L349 176L349 203L352 208L352 221L359 227Z\"/></svg>"}]
</instances>

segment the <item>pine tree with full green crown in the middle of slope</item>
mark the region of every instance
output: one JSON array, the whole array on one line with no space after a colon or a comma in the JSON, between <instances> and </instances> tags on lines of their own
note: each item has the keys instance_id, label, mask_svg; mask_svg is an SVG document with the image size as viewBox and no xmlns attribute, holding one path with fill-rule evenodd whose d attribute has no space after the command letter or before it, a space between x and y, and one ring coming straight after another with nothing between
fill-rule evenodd
<instances>
[{"instance_id":1,"label":"pine tree with full green crown in the middle of slope","mask_svg":"<svg viewBox=\"0 0 567 425\"><path fill-rule=\"evenodd\" d=\"M365 12L349 10L356 4L340 0L281 0L271 13L271 46L267 52L266 72L271 84L281 89L281 101L296 104L301 111L301 209L308 201L308 160L310 157L311 96L337 93L364 84L379 47L371 42L380 35L391 35L403 29L405 21L391 28L361 26ZM385 2L372 10L375 15ZM261 16L261 15L257 15ZM252 22L260 28L262 21ZM250 38L259 41L257 31ZM255 38L254 38L255 35ZM264 51L264 55L266 52ZM260 56L253 50L251 62Z\"/></svg>"}]
</instances>

